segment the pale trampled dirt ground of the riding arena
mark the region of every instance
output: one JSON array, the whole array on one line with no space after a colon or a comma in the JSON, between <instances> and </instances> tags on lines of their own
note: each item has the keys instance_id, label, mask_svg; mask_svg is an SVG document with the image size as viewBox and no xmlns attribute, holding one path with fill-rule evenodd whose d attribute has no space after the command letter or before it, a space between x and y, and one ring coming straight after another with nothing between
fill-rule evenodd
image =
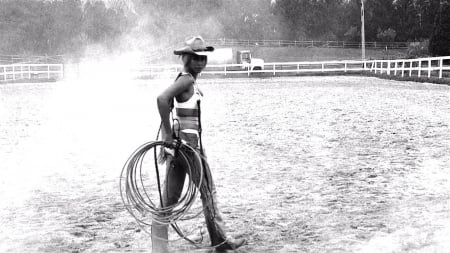
<instances>
[{"instance_id":1,"label":"pale trampled dirt ground of the riding arena","mask_svg":"<svg viewBox=\"0 0 450 253\"><path fill-rule=\"evenodd\" d=\"M119 177L155 138L169 83L1 84L0 252L150 252ZM239 252L448 252L450 87L351 76L199 85L219 207L249 242ZM202 219L180 225L199 231Z\"/></svg>"}]
</instances>

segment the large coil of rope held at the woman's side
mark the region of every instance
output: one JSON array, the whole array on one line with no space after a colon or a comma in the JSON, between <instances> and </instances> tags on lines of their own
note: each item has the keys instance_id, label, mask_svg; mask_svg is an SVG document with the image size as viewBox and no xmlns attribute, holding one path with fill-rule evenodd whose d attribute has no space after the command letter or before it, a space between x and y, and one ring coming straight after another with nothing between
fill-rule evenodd
<instances>
[{"instance_id":1,"label":"large coil of rope held at the woman's side","mask_svg":"<svg viewBox=\"0 0 450 253\"><path fill-rule=\"evenodd\" d=\"M151 149L154 149L156 156L158 149L176 149L176 145L179 145L177 159L182 159L188 165L186 166L186 174L190 180L188 180L185 193L179 198L178 202L169 206L157 205L148 193L149 186L145 184L146 178L143 176L143 160ZM192 156L192 154L194 155ZM199 177L199 185L201 185L203 179L203 168L194 168L194 161L189 158L197 160L197 164L202 164L201 157L189 145L185 145L182 142L175 144L164 141L145 143L137 148L128 158L120 177L120 195L127 211L140 225L151 226L152 220L160 224L173 224L178 220L186 220L185 216L198 195L197 185L195 185L192 179ZM155 165L157 179L159 180L159 166L156 159ZM173 163L171 166L173 166ZM199 172L200 175L195 175L196 172ZM160 195L161 200L162 197ZM148 220L149 215L151 215L150 220Z\"/></svg>"}]
</instances>

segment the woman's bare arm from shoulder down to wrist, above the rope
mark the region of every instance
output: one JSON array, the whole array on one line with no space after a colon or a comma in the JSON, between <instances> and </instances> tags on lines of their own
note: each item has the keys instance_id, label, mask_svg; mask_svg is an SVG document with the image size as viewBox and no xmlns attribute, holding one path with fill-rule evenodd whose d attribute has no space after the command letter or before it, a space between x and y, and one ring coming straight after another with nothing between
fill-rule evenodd
<instances>
[{"instance_id":1,"label":"woman's bare arm from shoulder down to wrist, above the rope","mask_svg":"<svg viewBox=\"0 0 450 253\"><path fill-rule=\"evenodd\" d=\"M162 121L162 137L164 141L172 141L172 127L170 125L170 106L172 101L176 96L187 91L193 83L194 78L192 76L180 76L158 96L157 103Z\"/></svg>"}]
</instances>

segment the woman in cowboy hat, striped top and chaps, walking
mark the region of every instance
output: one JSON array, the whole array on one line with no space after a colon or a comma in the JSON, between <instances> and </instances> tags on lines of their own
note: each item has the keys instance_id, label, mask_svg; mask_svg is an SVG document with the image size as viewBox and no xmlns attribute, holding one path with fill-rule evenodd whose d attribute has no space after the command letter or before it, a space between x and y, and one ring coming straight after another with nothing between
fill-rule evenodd
<instances>
[{"instance_id":1,"label":"woman in cowboy hat, striped top and chaps, walking","mask_svg":"<svg viewBox=\"0 0 450 253\"><path fill-rule=\"evenodd\" d=\"M162 120L162 138L166 142L173 142L173 129L176 130L178 138L184 140L188 145L201 153L201 140L199 133L199 106L203 96L196 85L198 74L205 68L207 54L214 50L213 47L206 47L201 37L194 37L185 42L185 46L175 50L175 55L180 55L184 64L184 69L178 74L175 82L158 96L158 109ZM175 126L172 127L170 113L172 104L175 108ZM164 150L163 156L166 159L167 173L163 190L163 205L168 206L176 203L183 190L186 176L186 162L173 157L171 150ZM244 239L227 238L222 227L222 218L217 209L215 187L211 177L211 172L205 160L202 165L194 159L195 154L191 154L191 162L194 167L203 167L203 180L200 187L200 194L203 204L206 225L208 228L211 245L217 246L217 250L231 250L242 246ZM174 166L170 166L174 163ZM193 179L198 185L198 179ZM153 252L168 252L168 225L161 225L157 222L152 224L152 248Z\"/></svg>"}]
</instances>

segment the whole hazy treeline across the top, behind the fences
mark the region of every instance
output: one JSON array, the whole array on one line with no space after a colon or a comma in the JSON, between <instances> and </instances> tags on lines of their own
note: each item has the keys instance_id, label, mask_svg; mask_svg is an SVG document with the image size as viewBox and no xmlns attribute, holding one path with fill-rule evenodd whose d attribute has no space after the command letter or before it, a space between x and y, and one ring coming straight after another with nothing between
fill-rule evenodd
<instances>
[{"instance_id":1,"label":"whole hazy treeline across the top, behind the fences","mask_svg":"<svg viewBox=\"0 0 450 253\"><path fill-rule=\"evenodd\" d=\"M450 37L447 2L366 0L366 41L425 41L433 36L432 45L445 47ZM150 49L180 43L192 34L236 39L361 39L361 0L108 3L115 4L0 0L0 54L80 54L90 44L115 50L124 41L127 47Z\"/></svg>"}]
</instances>

